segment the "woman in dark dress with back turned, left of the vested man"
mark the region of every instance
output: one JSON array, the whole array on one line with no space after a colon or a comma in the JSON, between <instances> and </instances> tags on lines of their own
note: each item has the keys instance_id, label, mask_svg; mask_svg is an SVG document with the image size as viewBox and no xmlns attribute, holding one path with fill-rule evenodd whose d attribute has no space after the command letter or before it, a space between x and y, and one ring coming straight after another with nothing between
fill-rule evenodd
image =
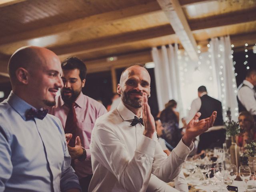
<instances>
[{"instance_id":1,"label":"woman in dark dress with back turned, left of the vested man","mask_svg":"<svg viewBox=\"0 0 256 192\"><path fill-rule=\"evenodd\" d=\"M182 129L179 128L179 112L175 111L177 102L170 100L160 113L160 120L164 127L164 138L171 146L176 147L182 138Z\"/></svg>"}]
</instances>

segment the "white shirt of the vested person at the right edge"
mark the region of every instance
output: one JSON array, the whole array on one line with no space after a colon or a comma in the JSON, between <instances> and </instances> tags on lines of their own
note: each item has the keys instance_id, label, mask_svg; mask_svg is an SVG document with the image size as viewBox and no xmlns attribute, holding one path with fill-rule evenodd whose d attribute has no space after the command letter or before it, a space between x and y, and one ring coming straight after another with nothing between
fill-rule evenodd
<instances>
[{"instance_id":1,"label":"white shirt of the vested person at the right edge","mask_svg":"<svg viewBox=\"0 0 256 192\"><path fill-rule=\"evenodd\" d=\"M242 84L247 86L242 86ZM247 80L244 80L242 84L238 87L238 99L246 108L246 110L250 112L250 114L256 115L256 98L254 86Z\"/></svg>"}]
</instances>

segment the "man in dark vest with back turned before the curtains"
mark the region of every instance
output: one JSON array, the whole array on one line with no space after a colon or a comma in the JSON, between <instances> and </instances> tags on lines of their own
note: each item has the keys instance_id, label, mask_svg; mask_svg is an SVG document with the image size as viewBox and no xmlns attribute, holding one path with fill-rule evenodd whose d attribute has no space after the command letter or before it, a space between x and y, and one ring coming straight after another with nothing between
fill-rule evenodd
<instances>
[{"instance_id":1,"label":"man in dark vest with back turned before the curtains","mask_svg":"<svg viewBox=\"0 0 256 192\"><path fill-rule=\"evenodd\" d=\"M217 111L216 120L212 128L199 136L197 153L201 153L202 150L207 148L222 147L226 140L226 130L224 129L222 118L222 104L219 100L208 96L205 86L200 86L198 88L198 98L192 101L186 121L189 122L197 112L202 114L199 118L200 120L208 117L213 111Z\"/></svg>"}]
</instances>

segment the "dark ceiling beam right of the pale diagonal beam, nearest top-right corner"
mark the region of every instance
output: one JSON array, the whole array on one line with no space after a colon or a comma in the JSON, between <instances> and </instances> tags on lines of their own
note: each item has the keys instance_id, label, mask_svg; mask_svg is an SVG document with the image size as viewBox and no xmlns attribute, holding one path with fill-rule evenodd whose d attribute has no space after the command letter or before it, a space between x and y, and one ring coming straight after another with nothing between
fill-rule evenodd
<instances>
[{"instance_id":1,"label":"dark ceiling beam right of the pale diagonal beam, nearest top-right corner","mask_svg":"<svg viewBox=\"0 0 256 192\"><path fill-rule=\"evenodd\" d=\"M203 19L189 20L189 26L192 31L214 28L238 23L245 23L256 20L256 10L246 10L243 12L234 12L220 14L218 16L206 17Z\"/></svg>"}]
</instances>

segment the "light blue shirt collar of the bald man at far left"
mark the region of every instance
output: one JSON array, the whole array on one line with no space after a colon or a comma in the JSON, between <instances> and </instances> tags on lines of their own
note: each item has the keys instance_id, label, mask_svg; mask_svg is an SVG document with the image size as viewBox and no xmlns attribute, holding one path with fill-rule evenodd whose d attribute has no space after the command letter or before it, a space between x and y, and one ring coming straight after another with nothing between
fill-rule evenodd
<instances>
[{"instance_id":1,"label":"light blue shirt collar of the bald man at far left","mask_svg":"<svg viewBox=\"0 0 256 192\"><path fill-rule=\"evenodd\" d=\"M12 106L12 108L18 113L20 114L20 116L26 120L25 117L25 113L28 109L33 108L34 110L36 110L36 108L34 108L32 105L28 104L26 101L24 101L23 99L21 99L20 97L18 97L16 94L14 94L14 92L11 91L10 95L7 98L7 102L10 104L10 106Z\"/></svg>"}]
</instances>

